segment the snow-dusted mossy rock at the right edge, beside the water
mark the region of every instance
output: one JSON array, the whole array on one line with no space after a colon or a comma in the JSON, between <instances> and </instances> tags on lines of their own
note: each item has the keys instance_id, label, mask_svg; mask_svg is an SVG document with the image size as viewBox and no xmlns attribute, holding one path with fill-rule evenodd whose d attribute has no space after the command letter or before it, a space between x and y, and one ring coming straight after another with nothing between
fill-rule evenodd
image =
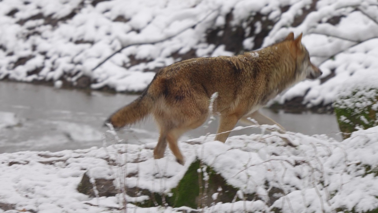
<instances>
[{"instance_id":1,"label":"snow-dusted mossy rock at the right edge, beside the water","mask_svg":"<svg viewBox=\"0 0 378 213\"><path fill-rule=\"evenodd\" d=\"M344 139L358 129L374 127L378 124L378 85L342 89L333 107Z\"/></svg>"}]
</instances>

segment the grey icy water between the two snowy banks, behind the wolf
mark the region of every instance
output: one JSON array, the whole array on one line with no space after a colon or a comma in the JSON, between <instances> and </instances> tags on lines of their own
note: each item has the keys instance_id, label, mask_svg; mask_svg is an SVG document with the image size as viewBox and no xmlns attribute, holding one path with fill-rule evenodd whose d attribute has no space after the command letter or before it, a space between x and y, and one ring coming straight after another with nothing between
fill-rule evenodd
<instances>
[{"instance_id":1,"label":"grey icy water between the two snowy banks, behind the wolf","mask_svg":"<svg viewBox=\"0 0 378 213\"><path fill-rule=\"evenodd\" d=\"M103 146L101 133L107 130L102 127L104 120L136 97L0 81L0 153ZM262 112L288 131L306 135L326 134L341 139L336 135L339 129L332 114L285 114L267 109ZM17 125L5 127L4 123L9 123L9 117L11 123L17 122ZM158 132L153 119L132 126L132 130L133 133L120 130L118 135L133 144L157 140ZM216 130L217 121L211 123L207 131L200 127L186 133L180 140L197 138L206 132L215 133ZM244 129L232 132L231 136L259 132ZM109 137L107 143L112 143Z\"/></svg>"}]
</instances>

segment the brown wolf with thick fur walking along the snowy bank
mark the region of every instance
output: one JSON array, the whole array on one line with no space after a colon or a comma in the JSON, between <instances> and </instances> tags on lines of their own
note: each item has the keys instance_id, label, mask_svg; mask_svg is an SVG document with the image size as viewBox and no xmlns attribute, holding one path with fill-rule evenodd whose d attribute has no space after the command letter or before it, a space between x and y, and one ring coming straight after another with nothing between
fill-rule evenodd
<instances>
[{"instance_id":1,"label":"brown wolf with thick fur walking along the snowy bank","mask_svg":"<svg viewBox=\"0 0 378 213\"><path fill-rule=\"evenodd\" d=\"M209 99L218 92L214 111L220 114L217 133L232 130L239 119L256 117L266 124L276 124L258 113L258 109L283 90L305 78L321 75L310 62L301 43L302 34L254 52L237 56L193 58L161 69L143 94L116 111L107 122L120 128L152 114L160 127L154 150L162 158L167 142L179 163L183 156L178 138L199 127L209 115ZM229 133L215 140L226 141Z\"/></svg>"}]
</instances>

